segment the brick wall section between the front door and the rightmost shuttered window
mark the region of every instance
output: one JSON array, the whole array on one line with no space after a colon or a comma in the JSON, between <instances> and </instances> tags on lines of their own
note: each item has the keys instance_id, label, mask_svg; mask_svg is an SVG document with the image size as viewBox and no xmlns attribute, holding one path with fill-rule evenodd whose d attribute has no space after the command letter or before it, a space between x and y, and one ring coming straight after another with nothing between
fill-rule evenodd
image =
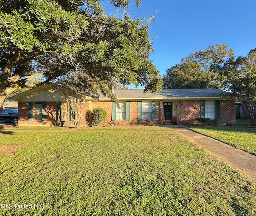
<instances>
[{"instance_id":1,"label":"brick wall section between the front door and the rightmost shuttered window","mask_svg":"<svg viewBox=\"0 0 256 216\"><path fill-rule=\"evenodd\" d=\"M178 100L177 124L195 124L196 118L200 118L200 110L200 100Z\"/></svg>"}]
</instances>

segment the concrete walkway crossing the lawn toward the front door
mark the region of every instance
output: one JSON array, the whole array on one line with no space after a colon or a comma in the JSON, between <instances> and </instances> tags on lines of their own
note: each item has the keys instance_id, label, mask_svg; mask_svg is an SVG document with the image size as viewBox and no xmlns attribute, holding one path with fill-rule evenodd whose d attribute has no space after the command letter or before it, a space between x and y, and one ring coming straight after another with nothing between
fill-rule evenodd
<instances>
[{"instance_id":1,"label":"concrete walkway crossing the lawn toward the front door","mask_svg":"<svg viewBox=\"0 0 256 216\"><path fill-rule=\"evenodd\" d=\"M240 149L236 149L216 139L188 130L187 127L166 127L216 155L218 158L256 182L256 156Z\"/></svg>"}]
</instances>

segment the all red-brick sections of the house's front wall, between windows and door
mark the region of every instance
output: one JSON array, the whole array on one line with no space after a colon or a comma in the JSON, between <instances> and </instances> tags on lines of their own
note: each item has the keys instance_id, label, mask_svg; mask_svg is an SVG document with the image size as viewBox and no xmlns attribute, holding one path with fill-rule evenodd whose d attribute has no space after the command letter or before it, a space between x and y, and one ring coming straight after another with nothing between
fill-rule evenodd
<instances>
[{"instance_id":1,"label":"all red-brick sections of the house's front wall, between windows and door","mask_svg":"<svg viewBox=\"0 0 256 216\"><path fill-rule=\"evenodd\" d=\"M178 100L177 101L177 124L196 124L196 118L200 117L200 100ZM91 123L92 110L103 108L107 112L107 118L103 124L108 124L112 119L112 102L87 101L82 113L81 125ZM31 125L57 125L56 120L57 102L46 102L46 121L28 121L28 102L18 102L18 124ZM163 124L163 101L156 102L156 121L150 120L150 124ZM89 116L89 118L88 118ZM236 108L234 100L221 100L220 123L235 124ZM138 121L138 102L130 102L130 121L122 121L123 124L131 124ZM144 124L144 121L138 122ZM73 126L74 122L64 122L64 126Z\"/></svg>"}]
</instances>

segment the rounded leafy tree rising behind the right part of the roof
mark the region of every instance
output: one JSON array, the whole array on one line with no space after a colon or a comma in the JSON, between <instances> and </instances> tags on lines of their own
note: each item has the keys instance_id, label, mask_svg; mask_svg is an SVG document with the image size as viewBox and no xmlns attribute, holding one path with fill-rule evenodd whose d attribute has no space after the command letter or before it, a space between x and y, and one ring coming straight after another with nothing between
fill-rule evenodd
<instances>
[{"instance_id":1,"label":"rounded leafy tree rising behind the right part of the roof","mask_svg":"<svg viewBox=\"0 0 256 216\"><path fill-rule=\"evenodd\" d=\"M233 61L234 50L226 44L196 51L166 70L164 88L226 88Z\"/></svg>"}]
</instances>

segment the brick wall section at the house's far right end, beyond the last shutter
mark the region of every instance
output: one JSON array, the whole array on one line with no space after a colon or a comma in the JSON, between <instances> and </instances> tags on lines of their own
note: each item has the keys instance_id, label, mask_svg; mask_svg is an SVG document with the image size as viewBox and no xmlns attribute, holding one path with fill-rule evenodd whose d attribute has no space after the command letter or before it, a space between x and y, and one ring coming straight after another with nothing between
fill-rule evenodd
<instances>
[{"instance_id":1,"label":"brick wall section at the house's far right end, beyond the last shutter","mask_svg":"<svg viewBox=\"0 0 256 216\"><path fill-rule=\"evenodd\" d=\"M236 104L234 100L220 101L220 122L236 124Z\"/></svg>"}]
</instances>

